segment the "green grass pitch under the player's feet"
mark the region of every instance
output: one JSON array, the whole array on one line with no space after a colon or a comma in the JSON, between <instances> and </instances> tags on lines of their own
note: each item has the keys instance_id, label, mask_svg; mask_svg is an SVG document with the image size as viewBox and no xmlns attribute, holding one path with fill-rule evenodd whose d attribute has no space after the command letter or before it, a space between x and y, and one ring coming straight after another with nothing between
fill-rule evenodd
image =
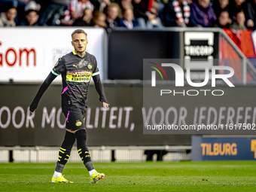
<instances>
[{"instance_id":1,"label":"green grass pitch under the player's feet","mask_svg":"<svg viewBox=\"0 0 256 192\"><path fill-rule=\"evenodd\" d=\"M53 184L55 163L0 163L0 191L256 191L256 161L93 165L105 173L98 184L82 163L63 171L74 184Z\"/></svg>"}]
</instances>

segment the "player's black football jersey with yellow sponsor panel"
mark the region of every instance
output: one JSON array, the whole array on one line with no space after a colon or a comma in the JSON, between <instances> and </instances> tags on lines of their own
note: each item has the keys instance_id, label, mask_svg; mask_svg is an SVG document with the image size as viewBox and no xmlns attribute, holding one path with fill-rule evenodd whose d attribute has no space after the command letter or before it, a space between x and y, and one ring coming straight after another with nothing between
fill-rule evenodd
<instances>
[{"instance_id":1,"label":"player's black football jersey with yellow sponsor panel","mask_svg":"<svg viewBox=\"0 0 256 192\"><path fill-rule=\"evenodd\" d=\"M66 108L85 110L90 79L99 75L95 56L86 52L80 57L74 50L59 58L51 72L62 75L62 111Z\"/></svg>"}]
</instances>

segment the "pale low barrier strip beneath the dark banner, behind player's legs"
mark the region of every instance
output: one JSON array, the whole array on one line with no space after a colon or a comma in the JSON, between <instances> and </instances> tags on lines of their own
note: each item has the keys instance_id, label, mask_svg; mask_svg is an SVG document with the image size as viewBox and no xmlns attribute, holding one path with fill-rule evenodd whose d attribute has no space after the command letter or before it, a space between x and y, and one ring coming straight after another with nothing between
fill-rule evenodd
<instances>
[{"instance_id":1,"label":"pale low barrier strip beneath the dark banner, behind player's legs","mask_svg":"<svg viewBox=\"0 0 256 192\"><path fill-rule=\"evenodd\" d=\"M163 161L181 161L191 159L191 146L100 146L88 147L93 162L144 162L145 150L165 151ZM55 163L59 147L0 147L0 163ZM10 157L11 156L11 157ZM157 160L157 154L153 155ZM76 147L72 149L69 162L80 163Z\"/></svg>"}]
</instances>

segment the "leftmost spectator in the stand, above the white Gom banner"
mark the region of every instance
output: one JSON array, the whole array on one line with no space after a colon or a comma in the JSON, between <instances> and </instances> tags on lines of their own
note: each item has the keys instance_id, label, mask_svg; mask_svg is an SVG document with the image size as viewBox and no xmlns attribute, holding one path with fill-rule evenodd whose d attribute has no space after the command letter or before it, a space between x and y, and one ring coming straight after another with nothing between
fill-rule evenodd
<instances>
[{"instance_id":1,"label":"leftmost spectator in the stand, above the white Gom banner","mask_svg":"<svg viewBox=\"0 0 256 192\"><path fill-rule=\"evenodd\" d=\"M0 15L0 26L16 26L14 21L17 16L17 8L10 6Z\"/></svg>"}]
</instances>

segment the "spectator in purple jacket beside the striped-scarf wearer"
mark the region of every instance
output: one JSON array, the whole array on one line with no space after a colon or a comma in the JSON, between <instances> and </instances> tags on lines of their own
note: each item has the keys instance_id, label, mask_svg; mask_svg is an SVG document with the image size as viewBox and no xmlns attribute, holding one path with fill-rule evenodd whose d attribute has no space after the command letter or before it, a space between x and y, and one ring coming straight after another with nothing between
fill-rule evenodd
<instances>
[{"instance_id":1,"label":"spectator in purple jacket beside the striped-scarf wearer","mask_svg":"<svg viewBox=\"0 0 256 192\"><path fill-rule=\"evenodd\" d=\"M193 2L191 17L193 17L197 26L203 27L212 27L217 20L212 5L210 5L210 0L196 0L196 2Z\"/></svg>"}]
</instances>

